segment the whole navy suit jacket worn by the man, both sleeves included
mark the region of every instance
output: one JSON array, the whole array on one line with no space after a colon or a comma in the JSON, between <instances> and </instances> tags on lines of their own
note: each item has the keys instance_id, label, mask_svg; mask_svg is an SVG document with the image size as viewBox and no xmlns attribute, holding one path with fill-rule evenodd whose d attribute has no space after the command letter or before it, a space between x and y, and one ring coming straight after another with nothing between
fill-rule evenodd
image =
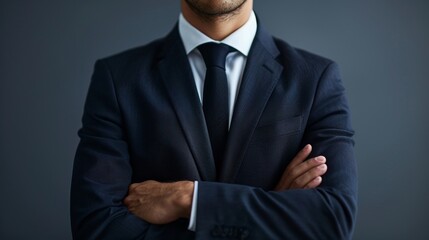
<instances>
[{"instance_id":1,"label":"whole navy suit jacket worn by the man, both sleeves included","mask_svg":"<svg viewBox=\"0 0 429 240\"><path fill-rule=\"evenodd\" d=\"M178 28L97 61L71 188L75 239L348 239L356 215L353 130L338 68L261 27L251 47L220 176ZM273 192L307 143L327 158L315 189ZM122 204L145 180L198 180L188 220L152 225Z\"/></svg>"}]
</instances>

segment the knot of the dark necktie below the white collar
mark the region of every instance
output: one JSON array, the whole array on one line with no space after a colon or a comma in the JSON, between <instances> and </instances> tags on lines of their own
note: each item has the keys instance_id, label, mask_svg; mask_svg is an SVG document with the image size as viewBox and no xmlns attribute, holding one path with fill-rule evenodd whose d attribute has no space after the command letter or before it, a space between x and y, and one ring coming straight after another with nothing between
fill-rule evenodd
<instances>
[{"instance_id":1,"label":"knot of the dark necktie below the white collar","mask_svg":"<svg viewBox=\"0 0 429 240\"><path fill-rule=\"evenodd\" d=\"M204 43L198 46L206 67L220 67L225 69L226 55L234 49L223 43Z\"/></svg>"}]
</instances>

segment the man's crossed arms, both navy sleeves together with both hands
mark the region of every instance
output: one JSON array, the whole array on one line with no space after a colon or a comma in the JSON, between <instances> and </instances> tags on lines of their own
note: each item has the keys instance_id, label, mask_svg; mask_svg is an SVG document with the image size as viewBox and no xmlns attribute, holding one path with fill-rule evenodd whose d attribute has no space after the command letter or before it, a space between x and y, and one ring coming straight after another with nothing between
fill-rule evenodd
<instances>
[{"instance_id":1,"label":"man's crossed arms, both navy sleeves together with both hands","mask_svg":"<svg viewBox=\"0 0 429 240\"><path fill-rule=\"evenodd\" d=\"M112 82L106 64L99 62L73 173L76 239L210 239L234 231L251 239L350 238L356 212L353 132L335 65L320 76L300 140L311 147L295 156L271 190L199 181L195 232L183 220L190 214L192 182L134 181L132 146L124 140ZM319 157L309 158L310 152Z\"/></svg>"}]
</instances>

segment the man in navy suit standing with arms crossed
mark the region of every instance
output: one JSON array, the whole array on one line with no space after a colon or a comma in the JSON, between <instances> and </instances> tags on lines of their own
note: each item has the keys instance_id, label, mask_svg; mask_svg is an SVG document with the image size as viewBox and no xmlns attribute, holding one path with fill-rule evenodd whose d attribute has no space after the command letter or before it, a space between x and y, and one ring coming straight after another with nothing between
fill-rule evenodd
<instances>
[{"instance_id":1,"label":"man in navy suit standing with arms crossed","mask_svg":"<svg viewBox=\"0 0 429 240\"><path fill-rule=\"evenodd\" d=\"M252 7L182 0L167 37L97 61L75 239L351 237L357 177L337 67L270 36Z\"/></svg>"}]
</instances>

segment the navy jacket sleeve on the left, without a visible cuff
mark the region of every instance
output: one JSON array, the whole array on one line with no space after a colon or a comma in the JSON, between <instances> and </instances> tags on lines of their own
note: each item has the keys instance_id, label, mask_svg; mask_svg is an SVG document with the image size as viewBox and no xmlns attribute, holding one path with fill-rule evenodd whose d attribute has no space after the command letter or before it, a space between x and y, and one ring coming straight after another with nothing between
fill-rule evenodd
<instances>
[{"instance_id":1,"label":"navy jacket sleeve on the left, without a visible cuff","mask_svg":"<svg viewBox=\"0 0 429 240\"><path fill-rule=\"evenodd\" d=\"M95 65L73 170L74 239L136 239L148 224L122 204L131 181L128 146L108 68Z\"/></svg>"}]
</instances>

